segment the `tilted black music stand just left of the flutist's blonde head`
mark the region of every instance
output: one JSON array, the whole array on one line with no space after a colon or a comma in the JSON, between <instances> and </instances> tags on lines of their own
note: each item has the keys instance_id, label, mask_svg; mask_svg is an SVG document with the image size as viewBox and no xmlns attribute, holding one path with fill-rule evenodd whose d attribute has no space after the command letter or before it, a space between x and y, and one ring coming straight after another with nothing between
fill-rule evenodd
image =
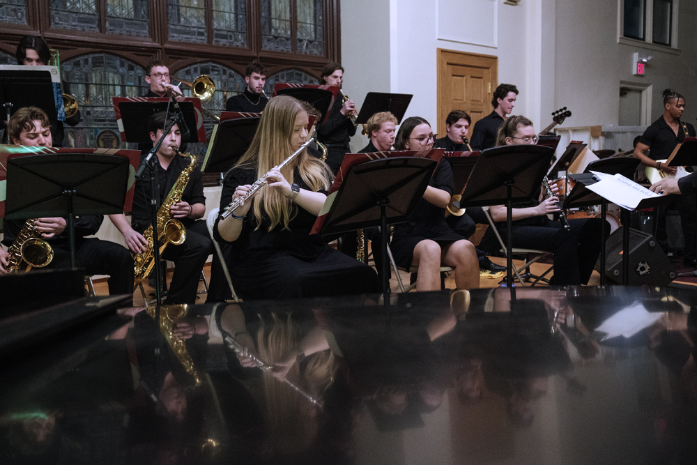
<instances>
[{"instance_id":1,"label":"tilted black music stand just left of the flutist's blonde head","mask_svg":"<svg viewBox=\"0 0 697 465\"><path fill-rule=\"evenodd\" d=\"M237 160L250 148L259 116L227 119L213 127L206 158L201 171L205 173L224 173L233 167Z\"/></svg>"}]
</instances>

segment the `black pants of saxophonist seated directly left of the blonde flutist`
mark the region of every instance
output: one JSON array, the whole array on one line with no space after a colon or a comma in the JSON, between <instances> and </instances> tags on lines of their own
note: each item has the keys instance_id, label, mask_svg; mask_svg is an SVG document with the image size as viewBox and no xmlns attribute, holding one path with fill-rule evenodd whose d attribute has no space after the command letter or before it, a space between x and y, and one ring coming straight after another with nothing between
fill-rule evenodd
<instances>
[{"instance_id":1,"label":"black pants of saxophonist seated directly left of the blonde flutist","mask_svg":"<svg viewBox=\"0 0 697 465\"><path fill-rule=\"evenodd\" d=\"M169 284L167 303L195 303L201 270L211 253L213 243L208 236L205 220L196 221L186 228L183 244L167 245L162 259L174 261L174 275Z\"/></svg>"}]
</instances>

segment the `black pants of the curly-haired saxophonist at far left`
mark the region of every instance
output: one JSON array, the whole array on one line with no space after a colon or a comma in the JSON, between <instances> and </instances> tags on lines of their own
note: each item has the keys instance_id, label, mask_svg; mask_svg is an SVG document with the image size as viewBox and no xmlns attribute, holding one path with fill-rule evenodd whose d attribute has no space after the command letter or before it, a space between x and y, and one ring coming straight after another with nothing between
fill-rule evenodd
<instances>
[{"instance_id":1,"label":"black pants of the curly-haired saxophonist at far left","mask_svg":"<svg viewBox=\"0 0 697 465\"><path fill-rule=\"evenodd\" d=\"M47 268L70 268L69 247L53 247L53 260ZM87 275L109 275L110 295L133 294L133 258L123 245L98 238L75 238L75 264Z\"/></svg>"}]
</instances>

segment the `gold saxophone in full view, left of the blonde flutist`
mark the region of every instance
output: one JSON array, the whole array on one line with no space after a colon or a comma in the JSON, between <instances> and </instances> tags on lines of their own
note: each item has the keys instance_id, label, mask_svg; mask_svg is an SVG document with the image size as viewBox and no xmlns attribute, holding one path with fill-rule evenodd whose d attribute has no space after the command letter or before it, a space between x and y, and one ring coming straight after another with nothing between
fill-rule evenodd
<instances>
[{"instance_id":1,"label":"gold saxophone in full view, left of the blonde flutist","mask_svg":"<svg viewBox=\"0 0 697 465\"><path fill-rule=\"evenodd\" d=\"M189 182L189 176L196 167L196 157L190 153L180 153L183 157L191 159L187 166L179 175L176 183L172 186L167 198L162 201L162 206L158 210L158 240L160 241L160 254L168 244L179 245L186 240L186 229L179 220L172 218L170 207L181 201L182 192ZM133 254L135 266L135 282L143 281L148 278L153 266L155 265L155 249L153 247L153 225L143 233L143 237L148 241L144 252Z\"/></svg>"}]
</instances>

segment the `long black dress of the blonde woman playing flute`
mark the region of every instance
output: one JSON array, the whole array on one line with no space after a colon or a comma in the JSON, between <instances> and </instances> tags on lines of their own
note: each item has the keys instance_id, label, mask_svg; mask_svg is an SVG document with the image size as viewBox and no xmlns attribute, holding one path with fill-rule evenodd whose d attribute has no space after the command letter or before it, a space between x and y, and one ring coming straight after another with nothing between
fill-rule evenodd
<instances>
[{"instance_id":1,"label":"long black dress of the blonde woman playing flute","mask_svg":"<svg viewBox=\"0 0 697 465\"><path fill-rule=\"evenodd\" d=\"M293 179L311 190L296 169ZM238 185L256 181L256 169L233 168L223 181L220 208L226 207ZM256 201L256 199L254 199ZM268 217L256 229L253 207L243 220L236 241L224 247L235 290L243 299L284 299L379 292L375 271L309 234L316 216L297 208L289 229L268 231ZM218 220L220 221L220 220ZM215 227L215 238L224 242Z\"/></svg>"}]
</instances>

